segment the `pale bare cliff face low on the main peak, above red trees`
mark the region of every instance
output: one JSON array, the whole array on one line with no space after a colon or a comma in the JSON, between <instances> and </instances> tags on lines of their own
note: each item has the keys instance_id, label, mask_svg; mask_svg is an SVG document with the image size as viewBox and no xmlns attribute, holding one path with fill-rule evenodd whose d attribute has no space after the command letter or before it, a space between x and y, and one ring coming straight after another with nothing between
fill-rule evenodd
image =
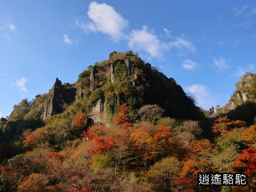
<instances>
[{"instance_id":1,"label":"pale bare cliff face low on the main peak, above red trees","mask_svg":"<svg viewBox=\"0 0 256 192\"><path fill-rule=\"evenodd\" d=\"M88 125L100 124L100 122L102 122L104 115L106 114L105 106L106 103L103 98L97 101L91 109L90 116L87 118Z\"/></svg>"}]
</instances>

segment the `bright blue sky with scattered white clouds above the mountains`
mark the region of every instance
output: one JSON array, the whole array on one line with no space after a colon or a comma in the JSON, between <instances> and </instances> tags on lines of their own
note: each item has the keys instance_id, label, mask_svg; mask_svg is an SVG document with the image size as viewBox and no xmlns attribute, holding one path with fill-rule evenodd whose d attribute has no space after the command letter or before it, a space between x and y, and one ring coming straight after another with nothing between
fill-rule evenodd
<instances>
[{"instance_id":1,"label":"bright blue sky with scattered white clouds above the mountains","mask_svg":"<svg viewBox=\"0 0 256 192\"><path fill-rule=\"evenodd\" d=\"M198 106L223 106L256 72L255 26L254 1L1 1L0 116L114 50L138 52Z\"/></svg>"}]
</instances>

